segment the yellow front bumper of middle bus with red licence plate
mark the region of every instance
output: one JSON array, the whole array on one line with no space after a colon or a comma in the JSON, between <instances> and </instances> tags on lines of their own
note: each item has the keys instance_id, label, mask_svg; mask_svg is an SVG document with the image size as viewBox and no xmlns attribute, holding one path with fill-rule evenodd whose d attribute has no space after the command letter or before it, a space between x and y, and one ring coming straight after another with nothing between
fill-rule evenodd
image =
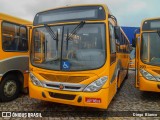
<instances>
[{"instance_id":1,"label":"yellow front bumper of middle bus with red licence plate","mask_svg":"<svg viewBox=\"0 0 160 120\"><path fill-rule=\"evenodd\" d=\"M29 96L44 101L101 109L106 109L109 105L109 88L98 92L72 92L38 87L29 81ZM86 99L91 99L92 103Z\"/></svg>"}]
</instances>

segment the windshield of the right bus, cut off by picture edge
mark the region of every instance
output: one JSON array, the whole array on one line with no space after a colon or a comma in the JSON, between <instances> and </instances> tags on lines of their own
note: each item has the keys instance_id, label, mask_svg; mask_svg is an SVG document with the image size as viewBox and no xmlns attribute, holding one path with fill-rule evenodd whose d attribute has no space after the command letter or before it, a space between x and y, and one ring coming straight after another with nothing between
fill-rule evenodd
<instances>
[{"instance_id":1,"label":"windshield of the right bus, cut off by picture edge","mask_svg":"<svg viewBox=\"0 0 160 120\"><path fill-rule=\"evenodd\" d=\"M158 32L143 33L141 60L150 65L160 65L160 35Z\"/></svg>"}]
</instances>

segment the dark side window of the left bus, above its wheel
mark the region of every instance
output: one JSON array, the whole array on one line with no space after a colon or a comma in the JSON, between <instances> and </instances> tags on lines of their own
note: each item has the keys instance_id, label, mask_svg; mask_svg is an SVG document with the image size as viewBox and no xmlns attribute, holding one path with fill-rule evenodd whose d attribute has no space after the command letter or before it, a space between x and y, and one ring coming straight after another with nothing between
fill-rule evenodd
<instances>
[{"instance_id":1,"label":"dark side window of the left bus, above its wheel","mask_svg":"<svg viewBox=\"0 0 160 120\"><path fill-rule=\"evenodd\" d=\"M2 23L2 48L4 51L27 51L27 28L17 24Z\"/></svg>"}]
</instances>

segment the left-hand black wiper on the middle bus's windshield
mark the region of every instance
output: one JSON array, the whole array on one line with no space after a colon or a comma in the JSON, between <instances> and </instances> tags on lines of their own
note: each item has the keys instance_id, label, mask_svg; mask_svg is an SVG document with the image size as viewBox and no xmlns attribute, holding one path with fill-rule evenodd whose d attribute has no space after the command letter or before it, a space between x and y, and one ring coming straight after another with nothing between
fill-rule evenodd
<instances>
[{"instance_id":1,"label":"left-hand black wiper on the middle bus's windshield","mask_svg":"<svg viewBox=\"0 0 160 120\"><path fill-rule=\"evenodd\" d=\"M48 26L47 24L44 24L46 30L48 31L48 33L51 35L53 40L56 40L56 50L58 52L58 30L57 30L57 35L53 32L53 30L50 28L50 26Z\"/></svg>"}]
</instances>

